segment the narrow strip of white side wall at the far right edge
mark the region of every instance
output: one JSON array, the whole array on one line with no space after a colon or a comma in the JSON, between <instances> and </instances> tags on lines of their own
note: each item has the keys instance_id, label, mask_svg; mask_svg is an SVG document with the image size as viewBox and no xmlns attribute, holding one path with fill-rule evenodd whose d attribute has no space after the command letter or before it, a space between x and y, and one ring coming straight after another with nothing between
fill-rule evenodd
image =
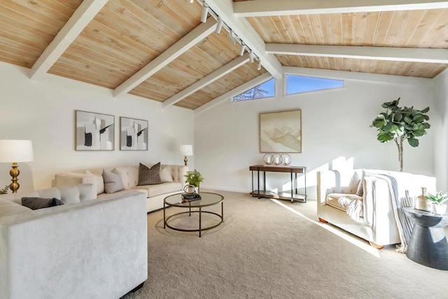
<instances>
[{"instance_id":1,"label":"narrow strip of white side wall at the far right edge","mask_svg":"<svg viewBox=\"0 0 448 299\"><path fill-rule=\"evenodd\" d=\"M440 75L435 83L436 114L433 128L435 131L434 155L435 175L437 176L437 188L448 191L448 71Z\"/></svg>"}]
</instances>

